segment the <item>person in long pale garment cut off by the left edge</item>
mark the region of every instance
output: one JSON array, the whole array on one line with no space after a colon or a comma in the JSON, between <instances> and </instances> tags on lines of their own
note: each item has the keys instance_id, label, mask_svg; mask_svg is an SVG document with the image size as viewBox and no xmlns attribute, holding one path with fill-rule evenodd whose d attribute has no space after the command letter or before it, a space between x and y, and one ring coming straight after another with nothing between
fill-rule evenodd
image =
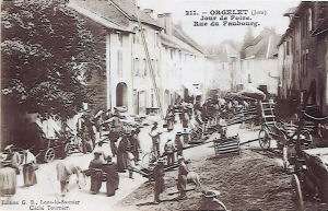
<instances>
[{"instance_id":1,"label":"person in long pale garment cut off by the left edge","mask_svg":"<svg viewBox=\"0 0 328 211\"><path fill-rule=\"evenodd\" d=\"M0 166L0 196L12 196L16 194L16 172L11 161L1 161Z\"/></svg>"}]
</instances>

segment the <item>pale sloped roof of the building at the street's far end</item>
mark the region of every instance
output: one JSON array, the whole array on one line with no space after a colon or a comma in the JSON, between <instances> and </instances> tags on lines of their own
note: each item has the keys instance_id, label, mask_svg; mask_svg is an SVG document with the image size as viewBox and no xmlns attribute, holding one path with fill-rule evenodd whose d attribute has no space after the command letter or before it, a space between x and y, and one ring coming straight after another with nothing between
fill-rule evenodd
<instances>
[{"instance_id":1,"label":"pale sloped roof of the building at the street's far end","mask_svg":"<svg viewBox=\"0 0 328 211\"><path fill-rule=\"evenodd\" d=\"M258 35L251 45L246 47L245 57L254 56L255 58L272 58L278 52L277 45L280 40L280 36L273 31L265 28L260 35Z\"/></svg>"}]
</instances>

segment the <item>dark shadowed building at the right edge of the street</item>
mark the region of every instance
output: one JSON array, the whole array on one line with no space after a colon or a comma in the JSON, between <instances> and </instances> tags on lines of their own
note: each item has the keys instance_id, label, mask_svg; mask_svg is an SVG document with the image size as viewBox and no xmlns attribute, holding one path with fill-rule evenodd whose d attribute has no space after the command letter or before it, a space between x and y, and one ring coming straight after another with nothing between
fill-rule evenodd
<instances>
[{"instance_id":1,"label":"dark shadowed building at the right edge of the street","mask_svg":"<svg viewBox=\"0 0 328 211\"><path fill-rule=\"evenodd\" d=\"M290 25L278 45L280 96L306 98L327 114L328 2L301 2L284 16Z\"/></svg>"}]
</instances>

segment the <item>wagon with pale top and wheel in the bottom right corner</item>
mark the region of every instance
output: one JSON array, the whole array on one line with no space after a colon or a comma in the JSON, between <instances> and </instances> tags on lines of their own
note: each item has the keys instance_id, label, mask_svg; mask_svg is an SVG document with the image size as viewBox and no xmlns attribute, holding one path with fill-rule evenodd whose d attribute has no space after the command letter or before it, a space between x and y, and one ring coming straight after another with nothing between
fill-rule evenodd
<instances>
[{"instance_id":1,"label":"wagon with pale top and wheel in the bottom right corner","mask_svg":"<svg viewBox=\"0 0 328 211\"><path fill-rule=\"evenodd\" d=\"M304 209L306 197L317 196L328 202L328 148L303 150L292 175L298 209Z\"/></svg>"}]
</instances>

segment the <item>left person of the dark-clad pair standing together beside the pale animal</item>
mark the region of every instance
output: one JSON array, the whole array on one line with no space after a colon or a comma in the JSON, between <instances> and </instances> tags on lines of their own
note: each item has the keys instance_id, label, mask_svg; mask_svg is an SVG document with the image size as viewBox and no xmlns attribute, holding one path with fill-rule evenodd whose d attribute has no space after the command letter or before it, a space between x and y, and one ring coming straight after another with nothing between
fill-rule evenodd
<instances>
[{"instance_id":1,"label":"left person of the dark-clad pair standing together beside the pale animal","mask_svg":"<svg viewBox=\"0 0 328 211\"><path fill-rule=\"evenodd\" d=\"M94 160L90 162L89 169L92 171L90 191L96 195L102 187L103 161L101 160L101 153L94 153Z\"/></svg>"}]
</instances>

